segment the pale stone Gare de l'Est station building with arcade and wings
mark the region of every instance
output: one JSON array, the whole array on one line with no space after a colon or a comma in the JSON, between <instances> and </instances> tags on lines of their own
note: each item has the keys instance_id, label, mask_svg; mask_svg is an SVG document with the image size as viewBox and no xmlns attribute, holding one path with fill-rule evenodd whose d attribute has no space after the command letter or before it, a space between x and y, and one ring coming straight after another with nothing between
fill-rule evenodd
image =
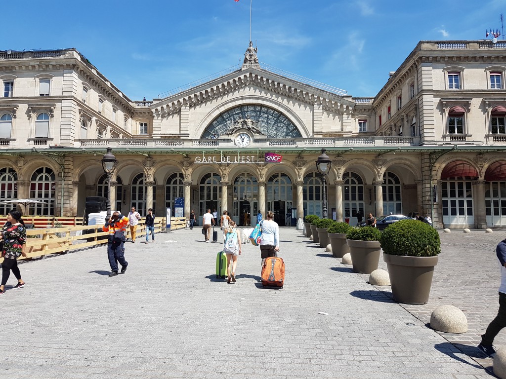
<instances>
[{"instance_id":1,"label":"pale stone Gare de l'Est station building with arcade and wings","mask_svg":"<svg viewBox=\"0 0 506 379\"><path fill-rule=\"evenodd\" d=\"M506 225L506 42L420 41L370 98L258 63L160 99L132 101L75 49L0 51L0 202L82 216L112 208L164 215L228 210L240 225L328 215L431 215L438 227ZM267 158L266 158L267 157ZM10 206L1 206L6 214Z\"/></svg>"}]
</instances>

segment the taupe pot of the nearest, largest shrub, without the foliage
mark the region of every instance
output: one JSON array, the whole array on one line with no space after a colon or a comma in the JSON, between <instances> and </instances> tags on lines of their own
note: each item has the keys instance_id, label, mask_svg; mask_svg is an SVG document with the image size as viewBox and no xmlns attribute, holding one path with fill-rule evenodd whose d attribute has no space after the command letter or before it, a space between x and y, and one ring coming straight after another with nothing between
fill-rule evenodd
<instances>
[{"instance_id":1,"label":"taupe pot of the nearest, largest shrub, without the foliage","mask_svg":"<svg viewBox=\"0 0 506 379\"><path fill-rule=\"evenodd\" d=\"M438 256L406 257L383 254L383 260L387 263L395 301L403 304L427 304Z\"/></svg>"}]
</instances>

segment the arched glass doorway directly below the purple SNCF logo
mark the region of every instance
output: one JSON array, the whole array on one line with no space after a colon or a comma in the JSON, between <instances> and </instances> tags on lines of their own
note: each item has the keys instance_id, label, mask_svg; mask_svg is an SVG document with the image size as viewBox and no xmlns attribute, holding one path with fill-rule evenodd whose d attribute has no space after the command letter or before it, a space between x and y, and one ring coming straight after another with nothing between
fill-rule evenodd
<instances>
[{"instance_id":1,"label":"arched glass doorway directly below the purple SNCF logo","mask_svg":"<svg viewBox=\"0 0 506 379\"><path fill-rule=\"evenodd\" d=\"M292 201L293 187L290 177L283 172L271 175L267 181L267 210L274 212L274 221L279 226L292 226ZM293 220L297 221L296 218Z\"/></svg>"}]
</instances>

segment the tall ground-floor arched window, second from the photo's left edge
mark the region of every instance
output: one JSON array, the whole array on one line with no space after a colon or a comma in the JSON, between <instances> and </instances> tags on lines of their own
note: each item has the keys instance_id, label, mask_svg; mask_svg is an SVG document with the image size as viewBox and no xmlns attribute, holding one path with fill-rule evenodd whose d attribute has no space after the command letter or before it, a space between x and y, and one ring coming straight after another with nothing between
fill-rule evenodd
<instances>
[{"instance_id":1,"label":"tall ground-floor arched window, second from the photo's left edge","mask_svg":"<svg viewBox=\"0 0 506 379\"><path fill-rule=\"evenodd\" d=\"M27 215L53 216L55 214L55 173L48 167L40 167L31 176L30 199L44 204L30 204L26 207Z\"/></svg>"}]
</instances>

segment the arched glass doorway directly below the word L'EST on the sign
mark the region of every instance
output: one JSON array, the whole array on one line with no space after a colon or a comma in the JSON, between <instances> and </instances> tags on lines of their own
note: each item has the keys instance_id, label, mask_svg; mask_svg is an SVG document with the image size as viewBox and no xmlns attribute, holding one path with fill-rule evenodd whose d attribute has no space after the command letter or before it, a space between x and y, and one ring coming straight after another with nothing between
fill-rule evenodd
<instances>
[{"instance_id":1,"label":"arched glass doorway directly below the word L'EST on the sign","mask_svg":"<svg viewBox=\"0 0 506 379\"><path fill-rule=\"evenodd\" d=\"M236 176L233 188L232 219L240 226L257 224L258 181L254 175L244 172Z\"/></svg>"}]
</instances>

